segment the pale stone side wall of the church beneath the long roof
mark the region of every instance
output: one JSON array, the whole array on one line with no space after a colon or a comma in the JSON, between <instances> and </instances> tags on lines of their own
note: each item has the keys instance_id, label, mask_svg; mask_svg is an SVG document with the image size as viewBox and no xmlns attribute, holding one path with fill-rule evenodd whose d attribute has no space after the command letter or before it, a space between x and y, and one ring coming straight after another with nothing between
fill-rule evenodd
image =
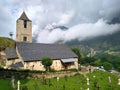
<instances>
[{"instance_id":1,"label":"pale stone side wall of the church beneath the long roof","mask_svg":"<svg viewBox=\"0 0 120 90\"><path fill-rule=\"evenodd\" d=\"M54 70L64 70L65 66L61 60L53 60L51 68ZM24 69L45 71L41 61L24 62ZM75 62L68 64L67 69L78 69L78 59L75 58Z\"/></svg>"}]
</instances>

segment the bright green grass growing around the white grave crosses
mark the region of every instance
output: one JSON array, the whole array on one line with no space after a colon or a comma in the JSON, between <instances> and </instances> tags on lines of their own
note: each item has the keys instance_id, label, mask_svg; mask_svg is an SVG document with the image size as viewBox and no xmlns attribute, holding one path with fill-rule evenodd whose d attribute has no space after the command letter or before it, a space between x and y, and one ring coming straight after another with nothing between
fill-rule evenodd
<instances>
[{"instance_id":1,"label":"bright green grass growing around the white grave crosses","mask_svg":"<svg viewBox=\"0 0 120 90\"><path fill-rule=\"evenodd\" d=\"M95 77L93 77L95 76ZM111 77L111 83L108 77ZM118 76L112 75L106 72L95 71L87 74L90 79L90 85L87 85L86 78L82 75L75 75L73 77L59 78L57 81L54 79L47 79L46 84L44 80L20 80L21 88L27 87L28 90L86 90L88 87L90 90L120 90L118 85ZM6 86L6 89L3 89ZM9 81L0 80L0 90L11 90ZM21 89L22 90L22 89ZM27 90L26 88L24 90Z\"/></svg>"}]
</instances>

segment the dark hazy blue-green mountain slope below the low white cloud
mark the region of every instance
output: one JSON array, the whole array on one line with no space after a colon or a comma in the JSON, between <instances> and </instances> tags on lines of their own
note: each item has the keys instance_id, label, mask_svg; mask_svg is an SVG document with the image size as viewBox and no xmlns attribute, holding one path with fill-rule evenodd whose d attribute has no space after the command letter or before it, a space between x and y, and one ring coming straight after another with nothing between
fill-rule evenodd
<instances>
[{"instance_id":1,"label":"dark hazy blue-green mountain slope below the low white cloud","mask_svg":"<svg viewBox=\"0 0 120 90\"><path fill-rule=\"evenodd\" d=\"M83 45L86 47L91 47L96 50L118 50L120 51L120 30L109 35L99 36L92 39L78 41L73 40L67 42L66 44L73 45Z\"/></svg>"}]
</instances>

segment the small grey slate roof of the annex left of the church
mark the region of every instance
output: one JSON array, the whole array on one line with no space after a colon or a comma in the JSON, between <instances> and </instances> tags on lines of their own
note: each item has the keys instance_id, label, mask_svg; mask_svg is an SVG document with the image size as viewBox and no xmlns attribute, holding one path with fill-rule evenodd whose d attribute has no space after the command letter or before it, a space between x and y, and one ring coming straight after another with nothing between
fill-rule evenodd
<instances>
[{"instance_id":1,"label":"small grey slate roof of the annex left of the church","mask_svg":"<svg viewBox=\"0 0 120 90\"><path fill-rule=\"evenodd\" d=\"M18 58L15 48L6 48L5 53L8 60Z\"/></svg>"}]
</instances>

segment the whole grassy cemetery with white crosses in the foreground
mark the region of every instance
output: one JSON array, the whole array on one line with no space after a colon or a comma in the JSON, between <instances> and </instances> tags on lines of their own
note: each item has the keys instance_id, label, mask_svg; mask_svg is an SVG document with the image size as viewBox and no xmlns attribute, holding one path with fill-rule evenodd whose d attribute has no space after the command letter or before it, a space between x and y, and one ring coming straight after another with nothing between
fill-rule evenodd
<instances>
[{"instance_id":1,"label":"whole grassy cemetery with white crosses in the foreground","mask_svg":"<svg viewBox=\"0 0 120 90\"><path fill-rule=\"evenodd\" d=\"M94 71L85 76L38 79L1 79L0 90L120 90L120 77L109 72Z\"/></svg>"}]
</instances>

